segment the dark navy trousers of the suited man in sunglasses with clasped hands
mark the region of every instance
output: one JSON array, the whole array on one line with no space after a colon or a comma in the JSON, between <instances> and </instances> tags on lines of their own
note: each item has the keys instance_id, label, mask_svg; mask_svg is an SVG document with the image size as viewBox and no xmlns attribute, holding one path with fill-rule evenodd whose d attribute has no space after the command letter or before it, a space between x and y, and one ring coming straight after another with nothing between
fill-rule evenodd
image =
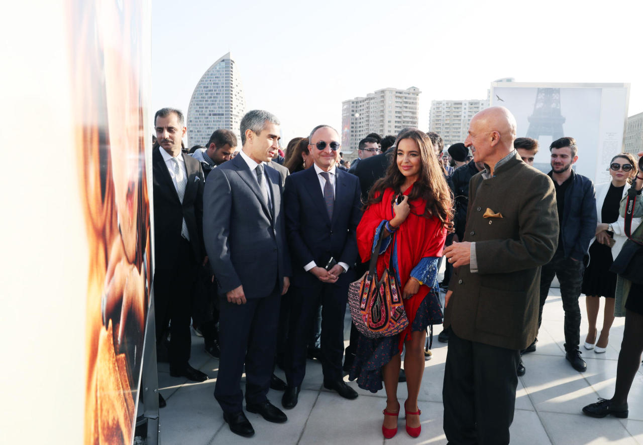
<instances>
[{"instance_id":1,"label":"dark navy trousers of the suited man in sunglasses with clasped hands","mask_svg":"<svg viewBox=\"0 0 643 445\"><path fill-rule=\"evenodd\" d=\"M342 274L343 275L343 274ZM316 283L310 288L294 287L291 325L285 360L288 385L302 384L306 374L306 353L311 325L321 304L321 368L325 381L343 378L341 358L344 355L344 315L348 302L349 280L340 275L341 283Z\"/></svg>"}]
</instances>

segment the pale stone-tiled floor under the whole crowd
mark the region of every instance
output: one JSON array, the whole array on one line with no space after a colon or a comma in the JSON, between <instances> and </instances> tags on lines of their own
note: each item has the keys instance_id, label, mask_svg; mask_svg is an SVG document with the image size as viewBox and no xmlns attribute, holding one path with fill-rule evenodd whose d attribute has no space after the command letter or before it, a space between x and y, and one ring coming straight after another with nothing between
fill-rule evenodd
<instances>
[{"instance_id":1,"label":"pale stone-tiled floor under the whole crowd","mask_svg":"<svg viewBox=\"0 0 643 445\"><path fill-rule=\"evenodd\" d=\"M557 289L550 296L543 313L543 326L538 335L538 349L525 354L525 376L519 378L516 412L511 426L512 444L640 444L643 445L643 367L639 370L629 393L629 418L592 419L581 414L581 408L597 397L611 397L616 376L617 358L622 339L624 318L616 318L610 331L610 344L604 354L585 351L586 335L584 297L580 305L581 351L587 362L586 372L577 372L565 360L563 343L563 307ZM602 306L601 306L602 310ZM599 317L599 329L601 324ZM346 326L350 326L347 312ZM255 428L251 439L230 432L224 423L221 408L213 397L219 361L203 351L203 339L192 337L190 363L208 373L210 380L192 383L169 374L167 363L159 363L159 387L167 400L160 410L160 440L163 445L190 444L446 444L442 432L442 378L448 344L437 342L434 333L433 358L426 362L420 392L422 433L412 439L399 420L397 435L385 441L381 435L381 410L385 407L384 391L372 394L350 385L359 392L349 401L322 386L321 365L307 363L299 403L288 415L285 424L271 424L258 414L247 413ZM348 330L347 330L348 332ZM348 334L345 336L348 338ZM280 370L277 374L284 378ZM243 383L242 383L243 385ZM271 390L268 398L281 406L281 392ZM406 385L401 383L398 398L406 398Z\"/></svg>"}]
</instances>

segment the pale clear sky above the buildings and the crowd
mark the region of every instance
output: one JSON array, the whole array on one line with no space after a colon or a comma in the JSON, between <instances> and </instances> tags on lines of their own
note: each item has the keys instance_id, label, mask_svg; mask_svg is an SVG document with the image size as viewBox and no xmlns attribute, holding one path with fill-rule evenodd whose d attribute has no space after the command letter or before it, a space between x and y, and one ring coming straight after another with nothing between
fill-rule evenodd
<instances>
[{"instance_id":1,"label":"pale clear sky above the buildings and the crowd","mask_svg":"<svg viewBox=\"0 0 643 445\"><path fill-rule=\"evenodd\" d=\"M419 87L431 100L484 99L491 82L631 83L643 111L643 2L152 0L152 116L188 110L203 73L231 52L247 109L282 121L284 146L341 126L341 101ZM520 130L520 129L519 129Z\"/></svg>"}]
</instances>

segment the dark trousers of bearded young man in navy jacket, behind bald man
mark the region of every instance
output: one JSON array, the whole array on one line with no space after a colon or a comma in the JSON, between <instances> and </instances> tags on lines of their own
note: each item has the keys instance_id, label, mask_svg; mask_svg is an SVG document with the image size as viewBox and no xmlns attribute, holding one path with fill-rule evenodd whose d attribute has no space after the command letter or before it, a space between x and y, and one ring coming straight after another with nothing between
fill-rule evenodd
<instances>
[{"instance_id":1,"label":"dark trousers of bearded young man in navy jacket, behind bald man","mask_svg":"<svg viewBox=\"0 0 643 445\"><path fill-rule=\"evenodd\" d=\"M581 308L578 306L578 297L581 295L583 271L583 261L565 258L563 249L559 248L552 260L542 266L540 272L538 327L543 321L543 307L547 301L549 286L556 275L561 285L561 299L565 310L565 351L578 349L581 342Z\"/></svg>"}]
</instances>

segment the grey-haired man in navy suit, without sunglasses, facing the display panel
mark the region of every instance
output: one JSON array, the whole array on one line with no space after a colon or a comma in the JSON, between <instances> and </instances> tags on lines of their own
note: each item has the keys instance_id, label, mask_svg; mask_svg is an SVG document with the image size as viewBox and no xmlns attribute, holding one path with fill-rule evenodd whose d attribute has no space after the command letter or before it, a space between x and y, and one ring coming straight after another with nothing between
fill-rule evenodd
<instances>
[{"instance_id":1,"label":"grey-haired man in navy suit, without sunglasses, facing the display panel","mask_svg":"<svg viewBox=\"0 0 643 445\"><path fill-rule=\"evenodd\" d=\"M242 150L208 176L203 238L221 302L221 359L214 396L233 433L254 434L239 387L246 367L246 410L275 423L286 415L266 398L273 374L281 295L289 286L283 181L267 163L276 155L279 121L263 110L241 121Z\"/></svg>"}]
</instances>

